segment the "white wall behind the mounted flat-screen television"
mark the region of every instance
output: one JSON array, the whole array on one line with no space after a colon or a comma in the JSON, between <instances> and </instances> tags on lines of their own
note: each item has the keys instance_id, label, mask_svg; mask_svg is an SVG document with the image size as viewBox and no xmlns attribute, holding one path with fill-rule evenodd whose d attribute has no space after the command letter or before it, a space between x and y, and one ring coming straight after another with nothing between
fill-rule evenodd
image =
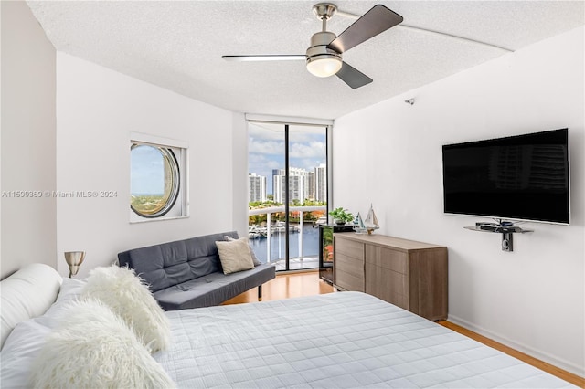
<instances>
[{"instance_id":1,"label":"white wall behind the mounted flat-screen television","mask_svg":"<svg viewBox=\"0 0 585 389\"><path fill-rule=\"evenodd\" d=\"M335 206L378 233L449 247L449 320L585 373L583 27L335 121ZM404 100L414 98L410 106ZM514 252L442 212L441 145L569 127L571 225L529 223ZM359 155L360 158L346 158ZM356 188L359 188L356 190ZM546 205L543 205L546 206Z\"/></svg>"}]
</instances>

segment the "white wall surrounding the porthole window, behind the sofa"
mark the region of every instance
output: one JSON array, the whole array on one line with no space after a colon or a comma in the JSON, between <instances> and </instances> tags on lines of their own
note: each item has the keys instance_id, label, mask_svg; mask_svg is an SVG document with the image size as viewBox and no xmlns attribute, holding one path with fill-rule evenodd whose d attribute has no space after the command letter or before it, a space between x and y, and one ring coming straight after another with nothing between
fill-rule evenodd
<instances>
[{"instance_id":1,"label":"white wall surrounding the porthole window, behind the sofa","mask_svg":"<svg viewBox=\"0 0 585 389\"><path fill-rule=\"evenodd\" d=\"M242 116L59 52L57 118L58 191L118 194L58 198L58 253L87 252L80 277L125 249L234 229L233 194L246 194L233 184ZM129 223L130 132L188 143L190 217ZM68 274L64 259L58 271Z\"/></svg>"}]
</instances>

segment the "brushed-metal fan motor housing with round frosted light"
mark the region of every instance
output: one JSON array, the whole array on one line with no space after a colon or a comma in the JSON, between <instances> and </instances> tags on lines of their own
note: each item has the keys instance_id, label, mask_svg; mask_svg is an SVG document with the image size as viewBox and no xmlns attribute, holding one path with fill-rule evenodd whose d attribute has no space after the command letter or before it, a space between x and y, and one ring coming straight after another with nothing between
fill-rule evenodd
<instances>
[{"instance_id":1,"label":"brushed-metal fan motor housing with round frosted light","mask_svg":"<svg viewBox=\"0 0 585 389\"><path fill-rule=\"evenodd\" d=\"M329 31L318 32L311 37L311 46L306 52L307 69L317 77L333 76L342 66L341 54L327 47L335 37L335 34ZM319 65L316 62L319 62ZM327 65L324 65L325 63Z\"/></svg>"}]
</instances>

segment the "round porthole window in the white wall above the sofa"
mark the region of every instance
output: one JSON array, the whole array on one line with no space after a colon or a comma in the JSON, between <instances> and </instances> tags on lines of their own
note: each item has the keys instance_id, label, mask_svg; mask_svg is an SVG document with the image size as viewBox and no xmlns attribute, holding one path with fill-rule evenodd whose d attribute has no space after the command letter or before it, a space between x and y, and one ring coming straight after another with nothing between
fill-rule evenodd
<instances>
[{"instance_id":1,"label":"round porthole window in the white wall above the sofa","mask_svg":"<svg viewBox=\"0 0 585 389\"><path fill-rule=\"evenodd\" d=\"M179 165L165 147L133 143L131 146L130 207L143 217L165 215L179 194Z\"/></svg>"}]
</instances>

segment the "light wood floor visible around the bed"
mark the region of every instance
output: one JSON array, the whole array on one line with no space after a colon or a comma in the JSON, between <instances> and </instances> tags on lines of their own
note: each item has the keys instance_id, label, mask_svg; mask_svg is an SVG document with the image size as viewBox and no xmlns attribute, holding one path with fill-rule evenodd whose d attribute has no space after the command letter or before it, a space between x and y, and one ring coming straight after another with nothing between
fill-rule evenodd
<instances>
[{"instance_id":1,"label":"light wood floor visible around the bed","mask_svg":"<svg viewBox=\"0 0 585 389\"><path fill-rule=\"evenodd\" d=\"M282 300L289 299L292 297L300 296L313 296L315 294L333 293L335 289L319 279L319 273L317 271L308 271L300 273L289 273L279 274L276 279L265 283L262 287L262 301L267 300ZM258 301L258 290L256 288L250 289L239 296L224 302L224 304L239 304L243 302L255 302ZM518 352L504 344L495 342L489 338L479 335L473 331L464 329L463 327L453 324L449 321L439 321L444 327L457 331L463 335L472 338L477 342L482 342L487 346L490 346L501 352L505 352L525 363L531 364L538 369L544 370L547 373L558 376L560 379L568 381L571 384L575 384L581 388L585 388L585 378L578 375L566 372L553 366L549 363L542 362L533 358L523 352Z\"/></svg>"}]
</instances>

